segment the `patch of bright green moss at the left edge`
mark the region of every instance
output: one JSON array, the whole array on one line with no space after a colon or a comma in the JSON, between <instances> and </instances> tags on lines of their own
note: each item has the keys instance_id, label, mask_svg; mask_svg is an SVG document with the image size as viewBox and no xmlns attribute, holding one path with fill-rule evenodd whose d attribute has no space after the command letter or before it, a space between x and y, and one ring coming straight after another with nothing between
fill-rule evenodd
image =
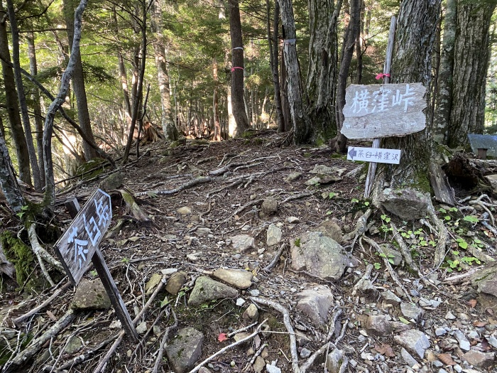
<instances>
[{"instance_id":1,"label":"patch of bright green moss at the left edge","mask_svg":"<svg viewBox=\"0 0 497 373\"><path fill-rule=\"evenodd\" d=\"M0 242L6 258L11 261L16 269L16 282L19 286L23 286L23 283L34 269L35 258L33 252L21 239L14 237L10 231L0 234ZM31 279L26 284L26 288L33 288L33 286L35 286L35 281Z\"/></svg>"}]
</instances>

